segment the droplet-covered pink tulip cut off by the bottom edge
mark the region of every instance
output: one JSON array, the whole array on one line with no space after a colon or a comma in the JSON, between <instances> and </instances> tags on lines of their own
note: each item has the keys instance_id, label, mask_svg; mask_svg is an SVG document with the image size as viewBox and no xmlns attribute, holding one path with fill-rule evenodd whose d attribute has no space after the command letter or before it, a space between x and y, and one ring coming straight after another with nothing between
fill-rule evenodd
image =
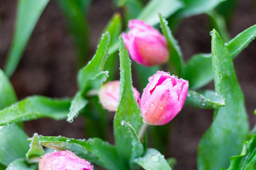
<instances>
[{"instance_id":1,"label":"droplet-covered pink tulip cut off by the bottom edge","mask_svg":"<svg viewBox=\"0 0 256 170\"><path fill-rule=\"evenodd\" d=\"M57 151L45 154L39 162L39 170L92 170L90 162L77 157L71 151Z\"/></svg>"}]
</instances>

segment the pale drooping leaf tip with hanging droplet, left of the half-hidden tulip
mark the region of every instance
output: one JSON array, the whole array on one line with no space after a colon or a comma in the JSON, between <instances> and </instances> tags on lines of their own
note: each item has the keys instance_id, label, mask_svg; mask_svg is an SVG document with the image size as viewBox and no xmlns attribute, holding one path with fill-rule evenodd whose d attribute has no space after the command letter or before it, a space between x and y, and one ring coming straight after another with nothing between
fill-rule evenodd
<instances>
[{"instance_id":1,"label":"pale drooping leaf tip with hanging droplet, left of the half-hidden tulip","mask_svg":"<svg viewBox=\"0 0 256 170\"><path fill-rule=\"evenodd\" d=\"M67 121L73 122L74 118L77 117L79 111L86 106L88 100L82 96L81 92L77 92L75 97L71 102L71 107L69 108Z\"/></svg>"}]
</instances>

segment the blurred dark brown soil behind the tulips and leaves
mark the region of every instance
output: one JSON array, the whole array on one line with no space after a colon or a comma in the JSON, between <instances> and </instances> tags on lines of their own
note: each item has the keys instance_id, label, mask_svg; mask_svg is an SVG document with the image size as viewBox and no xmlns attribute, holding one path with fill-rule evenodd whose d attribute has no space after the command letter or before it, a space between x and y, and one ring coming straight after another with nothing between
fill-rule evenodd
<instances>
[{"instance_id":1,"label":"blurred dark brown soil behind the tulips and leaves","mask_svg":"<svg viewBox=\"0 0 256 170\"><path fill-rule=\"evenodd\" d=\"M230 37L236 36L256 23L255 6L256 3L250 0L238 3L228 27ZM114 12L115 9L110 0L92 2L88 16L90 24L90 44L88 45L91 54L89 58L93 56L98 37ZM1 0L0 15L0 67L3 68L13 36L16 1ZM185 60L195 53L210 52L209 31L209 20L206 15L193 16L181 22L175 37L179 41ZM76 51L67 22L56 2L50 1L32 33L18 69L10 79L11 83L19 99L30 95L71 97L77 91L75 64ZM256 41L251 42L234 59L234 67L245 95L252 128L256 122L256 116L253 113L256 108ZM207 88L213 88L213 83ZM171 141L164 154L166 158L177 159L176 170L196 169L197 146L201 135L212 122L212 113L213 110L185 107L172 121ZM42 119L25 122L24 126L30 136L36 132L42 135L86 138L82 118L76 118L72 124L65 120ZM170 137L169 134L166 135ZM113 138L110 142L113 142Z\"/></svg>"}]
</instances>

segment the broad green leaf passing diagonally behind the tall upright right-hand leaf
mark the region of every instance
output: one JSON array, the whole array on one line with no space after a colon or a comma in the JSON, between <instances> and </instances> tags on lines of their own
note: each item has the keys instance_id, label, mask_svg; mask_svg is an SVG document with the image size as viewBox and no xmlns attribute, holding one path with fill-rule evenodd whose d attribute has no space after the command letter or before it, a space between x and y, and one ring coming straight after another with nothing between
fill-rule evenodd
<instances>
[{"instance_id":1,"label":"broad green leaf passing diagonally behind the tall upright right-hand leaf","mask_svg":"<svg viewBox=\"0 0 256 170\"><path fill-rule=\"evenodd\" d=\"M232 59L246 48L256 37L256 25L247 28L230 40L226 45ZM197 89L205 86L213 79L212 54L196 54L192 56L185 66L184 79L189 81L189 88Z\"/></svg>"}]
</instances>

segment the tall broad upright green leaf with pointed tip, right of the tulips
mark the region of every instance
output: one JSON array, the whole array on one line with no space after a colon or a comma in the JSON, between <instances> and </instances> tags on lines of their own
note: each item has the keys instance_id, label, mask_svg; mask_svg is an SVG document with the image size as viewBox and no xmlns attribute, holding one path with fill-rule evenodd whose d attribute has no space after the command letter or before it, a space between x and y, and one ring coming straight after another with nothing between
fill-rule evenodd
<instances>
[{"instance_id":1,"label":"tall broad upright green leaf with pointed tip, right of the tulips","mask_svg":"<svg viewBox=\"0 0 256 170\"><path fill-rule=\"evenodd\" d=\"M230 156L237 155L249 134L245 101L228 48L217 31L212 33L212 65L215 91L225 98L225 107L214 109L213 123L199 143L197 167L227 168Z\"/></svg>"}]
</instances>

